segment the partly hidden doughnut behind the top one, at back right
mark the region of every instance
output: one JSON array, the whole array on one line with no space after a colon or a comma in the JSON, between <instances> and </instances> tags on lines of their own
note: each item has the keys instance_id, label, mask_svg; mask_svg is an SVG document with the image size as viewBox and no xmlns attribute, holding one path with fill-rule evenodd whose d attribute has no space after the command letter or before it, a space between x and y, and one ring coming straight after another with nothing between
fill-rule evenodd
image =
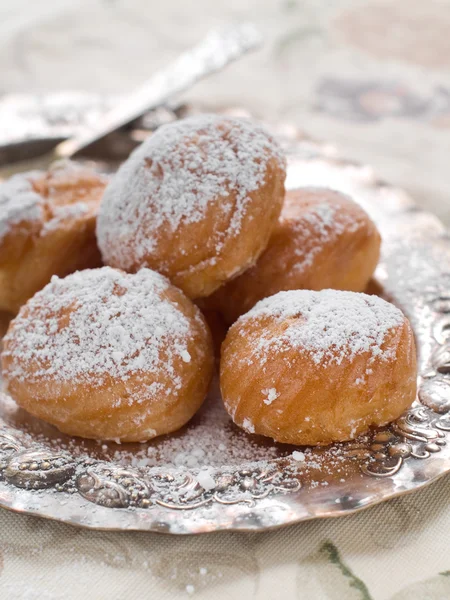
<instances>
[{"instance_id":1,"label":"partly hidden doughnut behind the top one, at back right","mask_svg":"<svg viewBox=\"0 0 450 600\"><path fill-rule=\"evenodd\" d=\"M351 198L326 188L289 191L278 225L255 266L205 301L228 323L284 290L365 290L380 234Z\"/></svg>"}]
</instances>

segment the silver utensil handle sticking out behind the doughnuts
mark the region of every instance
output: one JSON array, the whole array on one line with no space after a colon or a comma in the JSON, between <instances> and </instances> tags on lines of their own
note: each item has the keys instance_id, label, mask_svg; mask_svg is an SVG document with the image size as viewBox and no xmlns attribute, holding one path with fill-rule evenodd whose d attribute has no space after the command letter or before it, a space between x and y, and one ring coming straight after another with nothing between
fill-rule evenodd
<instances>
[{"instance_id":1,"label":"silver utensil handle sticking out behind the doughnuts","mask_svg":"<svg viewBox=\"0 0 450 600\"><path fill-rule=\"evenodd\" d=\"M108 133L190 88L199 79L257 48L261 41L260 33L251 24L211 31L197 46L184 52L167 68L157 71L144 85L108 111L97 126L58 144L53 151L55 158L74 156Z\"/></svg>"}]
</instances>

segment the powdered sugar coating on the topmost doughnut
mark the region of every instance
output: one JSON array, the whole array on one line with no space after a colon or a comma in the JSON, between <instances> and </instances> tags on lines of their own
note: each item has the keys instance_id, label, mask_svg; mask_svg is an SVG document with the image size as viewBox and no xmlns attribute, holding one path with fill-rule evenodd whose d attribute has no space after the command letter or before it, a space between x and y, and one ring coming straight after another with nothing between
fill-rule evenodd
<instances>
[{"instance_id":1,"label":"powdered sugar coating on the topmost doughnut","mask_svg":"<svg viewBox=\"0 0 450 600\"><path fill-rule=\"evenodd\" d=\"M248 195L274 157L284 169L275 141L246 120L202 115L160 127L105 192L97 224L104 259L132 267L155 251L162 227L200 222L212 202L229 222L226 232L214 232L220 251L224 236L239 232Z\"/></svg>"}]
</instances>

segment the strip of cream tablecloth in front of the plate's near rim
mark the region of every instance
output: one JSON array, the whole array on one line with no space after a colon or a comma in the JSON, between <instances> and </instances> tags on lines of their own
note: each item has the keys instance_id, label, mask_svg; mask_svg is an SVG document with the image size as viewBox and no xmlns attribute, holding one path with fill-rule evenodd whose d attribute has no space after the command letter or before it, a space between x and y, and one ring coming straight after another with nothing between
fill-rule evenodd
<instances>
[{"instance_id":1,"label":"strip of cream tablecloth in front of the plate's near rim","mask_svg":"<svg viewBox=\"0 0 450 600\"><path fill-rule=\"evenodd\" d=\"M446 477L349 517L194 537L0 511L0 598L448 600L449 495Z\"/></svg>"}]
</instances>

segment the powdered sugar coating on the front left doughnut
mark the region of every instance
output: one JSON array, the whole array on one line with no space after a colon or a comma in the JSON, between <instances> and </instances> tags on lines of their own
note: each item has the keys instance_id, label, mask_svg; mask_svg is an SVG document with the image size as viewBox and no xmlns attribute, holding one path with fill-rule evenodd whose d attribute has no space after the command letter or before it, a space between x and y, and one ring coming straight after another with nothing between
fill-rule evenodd
<instances>
[{"instance_id":1,"label":"powdered sugar coating on the front left doughnut","mask_svg":"<svg viewBox=\"0 0 450 600\"><path fill-rule=\"evenodd\" d=\"M104 376L126 381L140 372L162 370L179 389L174 361L190 360L192 332L189 319L164 296L169 285L148 269L128 275L104 267L53 277L19 313L5 338L5 355L13 359L9 376L88 378L101 385ZM200 314L198 320L203 326ZM148 395L172 391L160 387L157 382L148 386Z\"/></svg>"}]
</instances>

